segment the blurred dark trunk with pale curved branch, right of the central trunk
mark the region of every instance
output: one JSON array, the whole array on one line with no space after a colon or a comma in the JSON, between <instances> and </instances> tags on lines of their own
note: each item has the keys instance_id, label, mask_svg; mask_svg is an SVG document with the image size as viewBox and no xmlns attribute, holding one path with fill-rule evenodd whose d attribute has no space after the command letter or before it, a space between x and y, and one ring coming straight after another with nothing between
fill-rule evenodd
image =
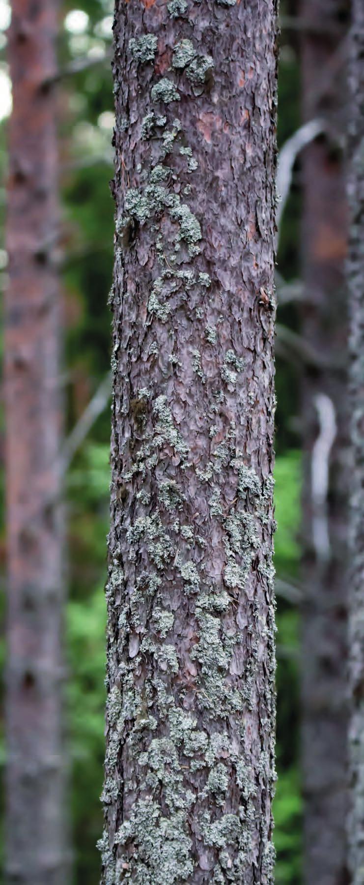
<instances>
[{"instance_id":1,"label":"blurred dark trunk with pale curved branch, right of the central trunk","mask_svg":"<svg viewBox=\"0 0 364 885\"><path fill-rule=\"evenodd\" d=\"M302 610L304 875L307 885L343 885L346 814L345 577L347 436L343 0L301 0L322 30L302 37L305 120L327 134L303 154L303 335L331 368L303 376L305 603Z\"/></svg>"}]
</instances>

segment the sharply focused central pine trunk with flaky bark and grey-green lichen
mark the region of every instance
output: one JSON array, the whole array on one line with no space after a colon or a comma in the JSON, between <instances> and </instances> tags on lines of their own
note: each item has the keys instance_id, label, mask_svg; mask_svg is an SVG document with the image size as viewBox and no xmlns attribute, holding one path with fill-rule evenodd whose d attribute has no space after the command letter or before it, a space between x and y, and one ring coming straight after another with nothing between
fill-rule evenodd
<instances>
[{"instance_id":1,"label":"sharply focused central pine trunk with flaky bark and grey-green lichen","mask_svg":"<svg viewBox=\"0 0 364 885\"><path fill-rule=\"evenodd\" d=\"M275 39L116 5L105 885L273 878Z\"/></svg>"}]
</instances>

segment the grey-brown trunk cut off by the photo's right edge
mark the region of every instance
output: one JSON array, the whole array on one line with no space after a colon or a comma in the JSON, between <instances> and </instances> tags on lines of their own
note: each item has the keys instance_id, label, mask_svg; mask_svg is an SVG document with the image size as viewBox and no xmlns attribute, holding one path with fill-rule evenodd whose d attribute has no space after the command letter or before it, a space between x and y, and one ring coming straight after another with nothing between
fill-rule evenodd
<instances>
[{"instance_id":1,"label":"grey-brown trunk cut off by the photo's right edge","mask_svg":"<svg viewBox=\"0 0 364 885\"><path fill-rule=\"evenodd\" d=\"M353 0L349 86L348 194L351 235L348 280L351 311L351 405L354 456L351 510L349 654L352 715L350 727L351 809L349 860L353 885L364 881L364 5Z\"/></svg>"}]
</instances>

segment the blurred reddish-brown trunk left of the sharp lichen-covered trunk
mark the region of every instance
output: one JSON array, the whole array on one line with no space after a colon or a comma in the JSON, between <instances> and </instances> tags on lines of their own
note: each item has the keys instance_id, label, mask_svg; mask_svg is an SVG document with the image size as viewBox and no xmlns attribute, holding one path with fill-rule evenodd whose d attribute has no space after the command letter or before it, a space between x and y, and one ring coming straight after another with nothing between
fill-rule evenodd
<instances>
[{"instance_id":1,"label":"blurred reddish-brown trunk left of the sharp lichen-covered trunk","mask_svg":"<svg viewBox=\"0 0 364 885\"><path fill-rule=\"evenodd\" d=\"M12 0L5 308L7 882L64 885L57 4Z\"/></svg>"}]
</instances>

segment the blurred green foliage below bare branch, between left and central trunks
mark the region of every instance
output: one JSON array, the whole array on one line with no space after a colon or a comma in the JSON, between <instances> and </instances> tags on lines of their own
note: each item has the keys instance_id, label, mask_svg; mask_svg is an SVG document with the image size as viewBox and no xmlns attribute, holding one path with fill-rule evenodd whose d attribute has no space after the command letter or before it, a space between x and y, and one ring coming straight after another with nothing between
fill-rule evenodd
<instances>
[{"instance_id":1,"label":"blurred green foliage below bare branch, between left and central trunks","mask_svg":"<svg viewBox=\"0 0 364 885\"><path fill-rule=\"evenodd\" d=\"M74 881L87 885L99 881L95 846L102 833L109 484L109 444L88 443L68 482L72 597L66 620Z\"/></svg>"}]
</instances>

